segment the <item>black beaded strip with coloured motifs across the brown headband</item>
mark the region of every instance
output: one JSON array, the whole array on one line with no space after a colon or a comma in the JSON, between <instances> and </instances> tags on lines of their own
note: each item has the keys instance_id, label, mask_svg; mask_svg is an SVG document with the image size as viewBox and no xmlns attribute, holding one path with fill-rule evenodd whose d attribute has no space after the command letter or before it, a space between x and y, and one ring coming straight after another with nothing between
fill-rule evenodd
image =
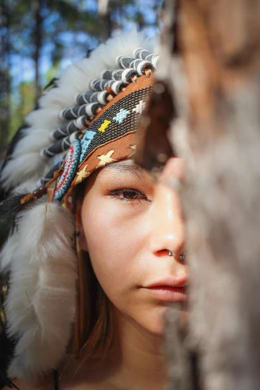
<instances>
[{"instance_id":1,"label":"black beaded strip with coloured motifs across the brown headband","mask_svg":"<svg viewBox=\"0 0 260 390\"><path fill-rule=\"evenodd\" d=\"M142 102L141 105L143 105L147 97L151 94L151 91L152 86L133 91L104 111L104 113L90 125L80 140L81 155L79 162L82 163L87 155L97 146L101 146L130 131L137 130L140 110L133 111L133 109L135 109L140 102ZM128 112L127 115L126 112ZM119 113L121 113L120 118L117 117ZM115 120L114 118L119 118L119 120ZM106 131L99 131L105 121L110 121L111 123ZM92 134L92 139L89 137L90 133Z\"/></svg>"}]
</instances>

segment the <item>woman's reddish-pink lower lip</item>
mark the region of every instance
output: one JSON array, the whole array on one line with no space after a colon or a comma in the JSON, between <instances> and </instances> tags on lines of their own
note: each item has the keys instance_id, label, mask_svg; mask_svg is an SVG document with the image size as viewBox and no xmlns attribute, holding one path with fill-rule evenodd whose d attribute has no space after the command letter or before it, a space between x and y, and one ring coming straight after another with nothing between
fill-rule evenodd
<instances>
[{"instance_id":1,"label":"woman's reddish-pink lower lip","mask_svg":"<svg viewBox=\"0 0 260 390\"><path fill-rule=\"evenodd\" d=\"M187 300L185 287L155 286L144 288L161 301L183 302Z\"/></svg>"}]
</instances>

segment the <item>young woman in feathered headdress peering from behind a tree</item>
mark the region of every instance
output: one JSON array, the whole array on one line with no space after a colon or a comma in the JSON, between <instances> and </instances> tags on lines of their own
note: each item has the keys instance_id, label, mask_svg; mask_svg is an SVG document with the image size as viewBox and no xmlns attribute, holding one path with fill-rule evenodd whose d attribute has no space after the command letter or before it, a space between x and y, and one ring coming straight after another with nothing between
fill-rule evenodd
<instances>
[{"instance_id":1,"label":"young woman in feathered headdress peering from behind a tree","mask_svg":"<svg viewBox=\"0 0 260 390\"><path fill-rule=\"evenodd\" d=\"M102 45L41 98L3 167L2 188L19 195L2 211L18 216L0 257L13 342L2 370L21 390L167 384L163 316L168 302L186 300L188 279L168 180L183 163L170 158L154 182L132 160L157 61L134 32ZM33 191L21 193L25 185Z\"/></svg>"}]
</instances>

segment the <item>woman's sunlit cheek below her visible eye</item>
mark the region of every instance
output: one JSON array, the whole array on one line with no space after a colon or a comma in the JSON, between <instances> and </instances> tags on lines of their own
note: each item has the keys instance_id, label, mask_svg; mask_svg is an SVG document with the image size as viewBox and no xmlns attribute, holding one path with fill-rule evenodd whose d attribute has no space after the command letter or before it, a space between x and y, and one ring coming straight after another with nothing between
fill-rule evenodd
<instances>
[{"instance_id":1,"label":"woman's sunlit cheek below her visible eye","mask_svg":"<svg viewBox=\"0 0 260 390\"><path fill-rule=\"evenodd\" d=\"M138 206L100 198L82 207L83 228L98 280L106 293L129 290L138 282L147 227Z\"/></svg>"}]
</instances>

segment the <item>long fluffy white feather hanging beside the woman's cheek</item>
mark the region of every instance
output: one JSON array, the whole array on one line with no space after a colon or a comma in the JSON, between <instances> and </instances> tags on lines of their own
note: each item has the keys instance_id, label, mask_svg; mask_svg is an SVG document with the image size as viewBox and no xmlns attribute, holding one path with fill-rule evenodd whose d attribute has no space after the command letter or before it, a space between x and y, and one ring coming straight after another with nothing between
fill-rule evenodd
<instances>
[{"instance_id":1,"label":"long fluffy white feather hanging beside the woman's cheek","mask_svg":"<svg viewBox=\"0 0 260 390\"><path fill-rule=\"evenodd\" d=\"M76 296L73 230L72 216L62 206L39 203L20 213L17 233L5 245L2 267L11 270L7 335L17 341L10 379L33 381L56 368L65 354Z\"/></svg>"}]
</instances>

